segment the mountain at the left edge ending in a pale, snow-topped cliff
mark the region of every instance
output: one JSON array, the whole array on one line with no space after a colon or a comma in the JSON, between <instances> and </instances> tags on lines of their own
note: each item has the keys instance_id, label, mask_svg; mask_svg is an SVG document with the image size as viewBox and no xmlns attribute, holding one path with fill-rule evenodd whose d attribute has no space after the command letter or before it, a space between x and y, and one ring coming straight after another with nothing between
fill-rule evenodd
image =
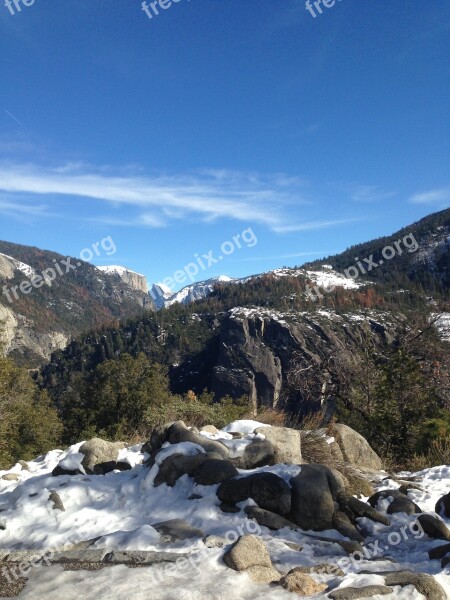
<instances>
[{"instance_id":1,"label":"mountain at the left edge ending in a pale, snow-topped cliff","mask_svg":"<svg viewBox=\"0 0 450 600\"><path fill-rule=\"evenodd\" d=\"M83 331L152 308L142 288L140 280L126 282L79 259L0 241L2 337L27 367L45 363Z\"/></svg>"}]
</instances>

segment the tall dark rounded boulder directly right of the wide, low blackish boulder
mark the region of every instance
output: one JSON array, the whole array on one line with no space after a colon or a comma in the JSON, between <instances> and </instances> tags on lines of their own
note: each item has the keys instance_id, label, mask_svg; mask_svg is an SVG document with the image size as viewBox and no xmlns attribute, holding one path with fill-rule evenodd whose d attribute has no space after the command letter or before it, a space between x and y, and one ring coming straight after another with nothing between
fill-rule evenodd
<instances>
[{"instance_id":1,"label":"tall dark rounded boulder directly right of the wide, low blackish boulder","mask_svg":"<svg viewBox=\"0 0 450 600\"><path fill-rule=\"evenodd\" d=\"M332 472L323 465L302 465L290 484L292 521L306 530L332 529L335 499L342 491Z\"/></svg>"}]
</instances>

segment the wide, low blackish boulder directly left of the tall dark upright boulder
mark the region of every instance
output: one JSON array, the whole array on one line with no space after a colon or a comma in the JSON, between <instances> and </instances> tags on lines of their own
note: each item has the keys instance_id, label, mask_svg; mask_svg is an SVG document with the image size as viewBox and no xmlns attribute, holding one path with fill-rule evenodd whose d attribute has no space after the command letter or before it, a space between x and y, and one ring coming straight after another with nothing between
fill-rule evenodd
<instances>
[{"instance_id":1,"label":"wide, low blackish boulder directly left of the tall dark upright boulder","mask_svg":"<svg viewBox=\"0 0 450 600\"><path fill-rule=\"evenodd\" d=\"M252 498L260 508L281 515L291 509L291 488L274 473L255 473L221 483L217 497L225 504L235 505Z\"/></svg>"}]
</instances>

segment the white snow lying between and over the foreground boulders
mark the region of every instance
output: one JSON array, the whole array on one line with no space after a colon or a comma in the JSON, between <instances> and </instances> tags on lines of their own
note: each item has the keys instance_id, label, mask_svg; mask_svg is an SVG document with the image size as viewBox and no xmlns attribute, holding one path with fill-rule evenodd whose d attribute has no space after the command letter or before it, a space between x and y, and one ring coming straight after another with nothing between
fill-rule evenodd
<instances>
[{"instance_id":1,"label":"white snow lying between and over the foreground boulders","mask_svg":"<svg viewBox=\"0 0 450 600\"><path fill-rule=\"evenodd\" d=\"M240 442L236 453L254 438L250 431L262 424L255 421L239 421L211 438L221 438L224 443ZM230 431L240 431L244 438L231 440ZM304 535L324 535L345 539L337 531L299 532L289 529L270 531L246 519L244 508L254 504L252 500L240 503L239 513L223 513L216 496L217 486L195 485L187 475L181 477L174 487L154 487L159 464L173 452L192 454L203 451L200 446L181 443L166 445L156 464L149 469L142 465L146 458L140 446L124 449L121 460L134 467L129 471L107 475L62 475L52 477L53 468L64 460L74 467L79 465L79 444L66 451L54 450L46 456L30 461L29 471L15 465L9 473L19 476L19 481L0 479L0 548L48 549L67 546L78 541L96 537L95 547L123 550L154 550L176 553L192 553L187 568L162 564L146 568L128 569L126 566L107 567L98 571L64 571L59 565L34 568L20 600L288 600L292 594L280 587L256 584L245 574L228 569L222 561L224 550L207 548L201 539L189 539L172 544L161 541L152 524L169 519L184 519L190 525L202 529L208 535L224 536L233 542L242 534L263 536L274 566L286 573L299 565L312 566L320 563L337 564L346 573L343 579L332 575L314 575L318 581L336 587L372 585L383 583L380 571L409 569L432 574L444 587L450 598L450 568L441 571L439 561L430 561L430 548L442 544L431 540L420 530L415 530L414 516L392 516L390 527L361 519L367 538L365 548L368 558L349 560L337 545L326 544ZM268 471L286 481L301 470L296 465L275 465L241 474ZM0 476L6 472L0 472ZM401 477L414 477L414 483L422 490L410 492L412 500L424 511L432 512L436 501L449 491L450 466L425 469L416 474L402 473ZM378 489L397 488L395 480L387 479L386 473L378 476ZM55 490L64 504L65 511L55 511L49 502L50 490ZM201 499L189 500L192 494ZM383 508L380 506L380 508ZM450 526L450 519L446 521ZM300 544L298 552L286 542ZM388 560L391 559L391 560ZM391 562L395 561L395 562ZM367 575L361 571L369 570ZM296 597L296 596L295 596ZM325 599L327 593L312 598ZM394 593L383 596L385 600L423 600L414 588L394 588ZM374 596L374 600L381 597Z\"/></svg>"}]
</instances>

